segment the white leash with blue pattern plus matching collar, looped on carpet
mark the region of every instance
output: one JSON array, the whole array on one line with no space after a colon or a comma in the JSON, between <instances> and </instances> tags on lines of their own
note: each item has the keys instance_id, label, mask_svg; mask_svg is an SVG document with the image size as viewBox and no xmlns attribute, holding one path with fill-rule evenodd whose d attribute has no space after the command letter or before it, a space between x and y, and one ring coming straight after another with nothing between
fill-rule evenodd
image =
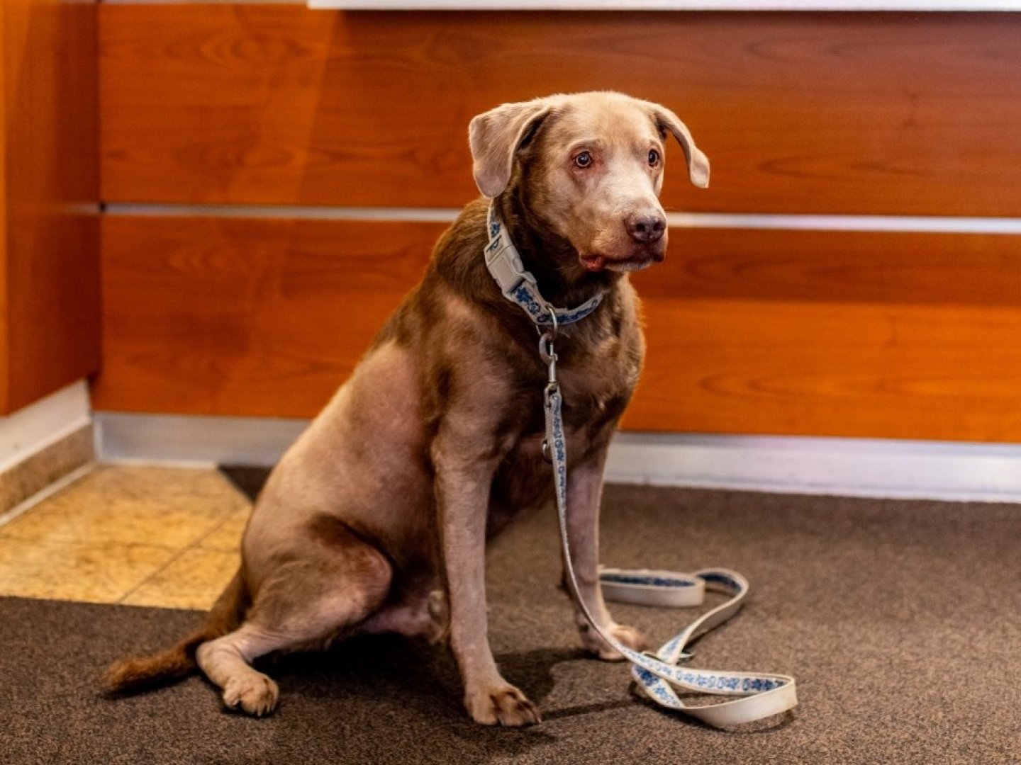
<instances>
[{"instance_id":1,"label":"white leash with blue pattern plus matching collar, looped on carpet","mask_svg":"<svg viewBox=\"0 0 1021 765\"><path fill-rule=\"evenodd\" d=\"M573 315L573 312L554 309L542 298L535 285L534 276L524 270L521 265L521 258L517 255L517 249L514 248L508 238L502 234L500 222L492 206L490 206L488 217L490 243L486 247L486 264L487 266L490 264L490 256L493 255L491 251L494 251L494 241L498 242L498 246L495 248L497 252L493 255L492 261L497 263L501 261L507 262L505 259L506 256L500 256L498 253L513 250L513 254L509 256L513 266L512 270L515 274L513 278L520 277L520 282L514 285L510 284L510 278L501 282L493 266L490 266L490 273L493 273L493 277L500 285L504 297L521 305L532 316L533 321L535 321L540 332L539 356L546 363L548 369L546 386L543 392L543 408L546 423L546 441L543 444L543 451L548 453L548 459L552 463L561 546L564 553L565 568L567 569L567 579L571 588L571 596L578 608L599 636L631 662L631 674L637 686L652 701L663 707L691 715L714 727L730 727L752 722L792 709L797 704L797 694L794 678L789 675L694 669L681 666L681 662L690 659L692 656L684 650L691 641L727 621L743 605L744 599L748 594L748 581L736 571L726 568L710 568L696 571L692 574L677 574L671 571L648 569L624 570L603 568L600 570L600 583L603 589L603 596L609 600L644 605L688 606L701 604L707 590L730 596L730 600L695 619L677 635L664 644L654 654L648 652L639 653L628 648L603 630L592 617L588 606L580 595L578 580L575 576L574 565L572 563L571 546L568 541L567 440L564 432L562 415L563 397L560 382L556 378L556 351L554 348L557 329L561 323L563 323L561 315L567 314L570 317ZM522 285L531 285L534 290L526 289L528 295L527 298L523 299L523 302L528 305L535 302L540 308L540 318L544 320L536 318L528 305L508 295L508 289L504 287L504 284L510 287L509 292L514 295L518 295ZM598 296L600 300L601 297L601 295ZM591 301L588 302L590 303ZM585 305L587 303L574 309L574 312L580 311ZM598 305L598 302L596 302L596 305ZM583 316L588 315L594 309L595 306L592 306ZM577 321L583 316L573 318L572 320ZM548 328L543 332L543 327ZM739 698L715 704L690 705L682 700L679 692L694 692L702 695Z\"/></svg>"}]
</instances>

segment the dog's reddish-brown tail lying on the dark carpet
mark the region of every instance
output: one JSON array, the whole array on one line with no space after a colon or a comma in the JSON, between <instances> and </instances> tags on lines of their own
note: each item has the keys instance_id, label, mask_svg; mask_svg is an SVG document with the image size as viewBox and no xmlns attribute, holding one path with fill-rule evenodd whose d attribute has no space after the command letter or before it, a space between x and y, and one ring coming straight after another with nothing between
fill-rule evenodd
<instances>
[{"instance_id":1,"label":"dog's reddish-brown tail lying on the dark carpet","mask_svg":"<svg viewBox=\"0 0 1021 765\"><path fill-rule=\"evenodd\" d=\"M110 665L103 677L104 692L131 694L184 679L198 667L195 663L198 647L240 626L248 605L247 588L239 570L209 610L205 624L173 648Z\"/></svg>"}]
</instances>

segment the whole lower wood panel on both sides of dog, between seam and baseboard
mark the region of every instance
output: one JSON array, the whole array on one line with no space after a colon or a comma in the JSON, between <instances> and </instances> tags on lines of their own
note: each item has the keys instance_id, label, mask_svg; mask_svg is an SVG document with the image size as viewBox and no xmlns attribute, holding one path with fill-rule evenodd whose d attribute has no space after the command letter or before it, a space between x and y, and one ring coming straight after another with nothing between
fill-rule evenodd
<instances>
[{"instance_id":1,"label":"whole lower wood panel on both sides of dog, between seam and baseboard","mask_svg":"<svg viewBox=\"0 0 1021 765\"><path fill-rule=\"evenodd\" d=\"M96 408L314 415L441 228L106 216ZM627 427L1021 441L1016 240L671 237Z\"/></svg>"}]
</instances>

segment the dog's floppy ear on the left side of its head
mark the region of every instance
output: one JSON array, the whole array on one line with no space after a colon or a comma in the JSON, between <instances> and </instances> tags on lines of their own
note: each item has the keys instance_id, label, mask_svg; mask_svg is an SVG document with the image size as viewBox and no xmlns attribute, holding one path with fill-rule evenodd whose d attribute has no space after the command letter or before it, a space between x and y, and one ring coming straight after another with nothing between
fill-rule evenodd
<instances>
[{"instance_id":1,"label":"dog's floppy ear on the left side of its head","mask_svg":"<svg viewBox=\"0 0 1021 765\"><path fill-rule=\"evenodd\" d=\"M468 126L475 183L487 197L495 197L510 182L514 157L552 109L547 99L503 104L479 114Z\"/></svg>"}]
</instances>

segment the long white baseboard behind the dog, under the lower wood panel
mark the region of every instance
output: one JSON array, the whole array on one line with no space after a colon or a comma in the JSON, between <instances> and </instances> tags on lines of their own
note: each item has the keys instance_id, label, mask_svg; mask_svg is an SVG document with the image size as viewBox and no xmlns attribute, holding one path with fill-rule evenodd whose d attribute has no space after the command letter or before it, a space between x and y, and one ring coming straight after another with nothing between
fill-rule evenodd
<instances>
[{"instance_id":1,"label":"long white baseboard behind the dog, under the lower wood panel","mask_svg":"<svg viewBox=\"0 0 1021 765\"><path fill-rule=\"evenodd\" d=\"M301 419L98 412L99 458L272 465ZM622 432L609 480L785 494L1021 502L1021 445Z\"/></svg>"}]
</instances>

